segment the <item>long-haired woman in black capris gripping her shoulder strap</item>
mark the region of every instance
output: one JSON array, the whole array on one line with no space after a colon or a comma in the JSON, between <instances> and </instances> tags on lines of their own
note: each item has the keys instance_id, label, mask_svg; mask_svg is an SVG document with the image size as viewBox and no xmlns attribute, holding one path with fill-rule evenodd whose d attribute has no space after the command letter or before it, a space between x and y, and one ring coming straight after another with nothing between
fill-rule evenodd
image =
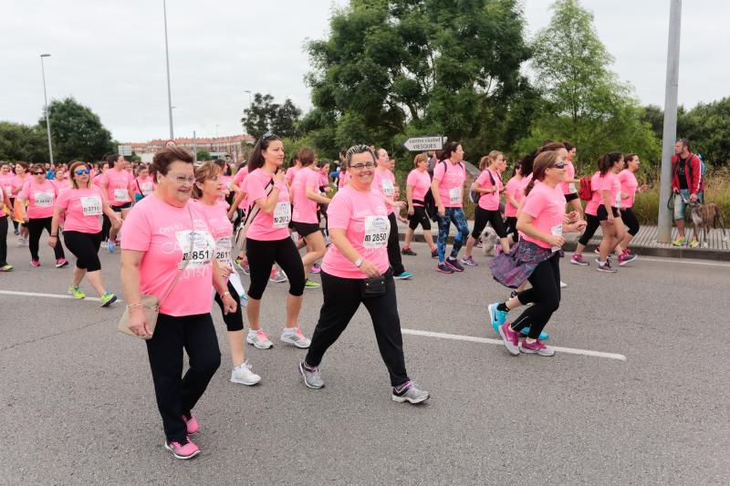
<instances>
[{"instance_id":1,"label":"long-haired woman in black capris gripping her shoulder strap","mask_svg":"<svg viewBox=\"0 0 730 486\"><path fill-rule=\"evenodd\" d=\"M247 194L250 209L247 211L248 230L245 253L251 270L248 287L246 316L251 328L246 342L259 348L273 346L261 328L261 297L266 290L274 264L287 274L287 324L282 330L281 341L297 347L308 347L309 339L299 328L299 310L304 294L304 265L297 245L289 237L291 202L281 166L284 163L284 145L276 135L267 132L258 140L248 161L249 174L243 190ZM255 211L257 207L257 212ZM251 214L254 214L251 217Z\"/></svg>"}]
</instances>

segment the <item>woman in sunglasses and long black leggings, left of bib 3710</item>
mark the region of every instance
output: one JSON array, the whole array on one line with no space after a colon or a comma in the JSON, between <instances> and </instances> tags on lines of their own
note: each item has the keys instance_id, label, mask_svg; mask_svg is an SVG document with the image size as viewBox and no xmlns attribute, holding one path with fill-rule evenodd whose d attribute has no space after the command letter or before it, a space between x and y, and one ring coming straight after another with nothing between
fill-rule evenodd
<instances>
[{"instance_id":1,"label":"woman in sunglasses and long black leggings, left of bib 3710","mask_svg":"<svg viewBox=\"0 0 730 486\"><path fill-rule=\"evenodd\" d=\"M23 221L28 226L30 264L40 266L38 242L43 229L45 228L48 234L57 234L51 231L51 221L54 202L58 196L58 186L55 182L46 179L46 169L41 164L30 166L30 174L32 179L27 181L23 189L18 192L18 198L24 202L20 209ZM56 253L56 268L68 266L62 245L55 245L53 252Z\"/></svg>"}]
</instances>

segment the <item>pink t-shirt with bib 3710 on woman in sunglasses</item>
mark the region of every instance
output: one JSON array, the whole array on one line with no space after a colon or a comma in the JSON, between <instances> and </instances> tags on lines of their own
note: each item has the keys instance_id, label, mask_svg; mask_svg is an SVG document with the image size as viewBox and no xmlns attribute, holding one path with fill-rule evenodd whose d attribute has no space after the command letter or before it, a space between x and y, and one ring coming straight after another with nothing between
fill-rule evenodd
<instances>
[{"instance_id":1,"label":"pink t-shirt with bib 3710 on woman in sunglasses","mask_svg":"<svg viewBox=\"0 0 730 486\"><path fill-rule=\"evenodd\" d=\"M99 233L104 194L101 189L91 185L89 189L67 189L61 191L56 199L56 207L66 212L63 230L79 233Z\"/></svg>"}]
</instances>

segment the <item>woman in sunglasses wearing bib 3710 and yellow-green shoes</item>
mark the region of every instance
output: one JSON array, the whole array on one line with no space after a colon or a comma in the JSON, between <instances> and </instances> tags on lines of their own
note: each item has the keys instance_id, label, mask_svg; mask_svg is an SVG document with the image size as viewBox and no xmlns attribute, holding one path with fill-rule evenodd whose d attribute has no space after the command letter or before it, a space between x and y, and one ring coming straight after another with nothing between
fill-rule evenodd
<instances>
[{"instance_id":1,"label":"woman in sunglasses wearing bib 3710 and yellow-green shoes","mask_svg":"<svg viewBox=\"0 0 730 486\"><path fill-rule=\"evenodd\" d=\"M86 297L80 289L81 281L86 276L89 284L99 295L101 306L106 307L117 300L117 295L107 292L101 277L99 216L102 212L107 214L115 226L119 226L121 221L111 210L101 189L91 182L89 166L86 163L74 161L68 172L71 187L61 191L56 199L48 245L54 249L60 247L58 226L63 221L63 241L68 251L76 256L76 266L71 284L68 285L68 294L77 299Z\"/></svg>"}]
</instances>

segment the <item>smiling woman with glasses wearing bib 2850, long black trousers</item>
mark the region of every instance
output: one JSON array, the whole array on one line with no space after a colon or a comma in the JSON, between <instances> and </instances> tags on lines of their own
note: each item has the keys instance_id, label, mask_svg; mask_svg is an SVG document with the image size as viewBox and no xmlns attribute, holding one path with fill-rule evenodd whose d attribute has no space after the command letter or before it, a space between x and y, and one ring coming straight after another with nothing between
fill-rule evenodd
<instances>
[{"instance_id":1,"label":"smiling woman with glasses wearing bib 2850, long black trousers","mask_svg":"<svg viewBox=\"0 0 730 486\"><path fill-rule=\"evenodd\" d=\"M355 145L347 151L347 164L351 179L329 203L332 245L322 261L324 303L299 372L308 388L324 387L319 372L322 357L364 304L391 377L392 399L420 403L429 394L411 382L405 369L395 282L388 262L388 209L382 192L372 186L375 154L367 145Z\"/></svg>"}]
</instances>

